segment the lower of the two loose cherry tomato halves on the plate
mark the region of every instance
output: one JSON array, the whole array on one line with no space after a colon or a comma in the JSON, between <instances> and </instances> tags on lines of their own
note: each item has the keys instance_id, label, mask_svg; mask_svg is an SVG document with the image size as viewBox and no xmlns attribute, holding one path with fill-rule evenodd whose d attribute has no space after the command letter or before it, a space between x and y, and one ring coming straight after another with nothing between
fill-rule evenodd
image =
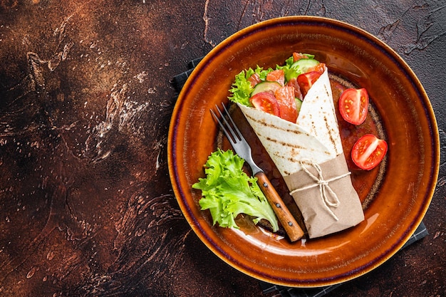
<instances>
[{"instance_id":1,"label":"lower of the two loose cherry tomato halves on the plate","mask_svg":"<svg viewBox=\"0 0 446 297\"><path fill-rule=\"evenodd\" d=\"M387 152L387 142L375 135L366 134L361 137L351 150L351 159L363 170L375 168Z\"/></svg>"}]
</instances>

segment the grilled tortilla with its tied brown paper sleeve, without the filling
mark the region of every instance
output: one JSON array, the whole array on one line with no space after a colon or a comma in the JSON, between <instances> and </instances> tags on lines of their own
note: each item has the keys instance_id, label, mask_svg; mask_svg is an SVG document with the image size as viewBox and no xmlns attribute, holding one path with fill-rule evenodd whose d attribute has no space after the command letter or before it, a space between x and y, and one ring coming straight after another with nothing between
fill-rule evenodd
<instances>
[{"instance_id":1,"label":"grilled tortilla with its tied brown paper sleeve, without the filling","mask_svg":"<svg viewBox=\"0 0 446 297\"><path fill-rule=\"evenodd\" d=\"M363 221L343 155L327 69L308 90L296 123L238 105L284 177L309 238Z\"/></svg>"}]
</instances>

